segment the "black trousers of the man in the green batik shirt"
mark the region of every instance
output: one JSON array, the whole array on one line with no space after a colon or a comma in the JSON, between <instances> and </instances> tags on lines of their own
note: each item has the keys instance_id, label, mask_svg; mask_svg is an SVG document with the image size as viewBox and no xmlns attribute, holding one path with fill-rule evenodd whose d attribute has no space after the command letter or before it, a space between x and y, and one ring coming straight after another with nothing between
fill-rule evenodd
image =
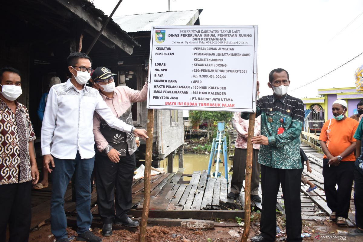
<instances>
[{"instance_id":1,"label":"black trousers of the man in the green batik shirt","mask_svg":"<svg viewBox=\"0 0 363 242\"><path fill-rule=\"evenodd\" d=\"M266 241L274 241L276 237L276 202L280 183L285 202L286 241L302 241L301 173L302 169L276 169L261 165L262 213L260 231Z\"/></svg>"}]
</instances>

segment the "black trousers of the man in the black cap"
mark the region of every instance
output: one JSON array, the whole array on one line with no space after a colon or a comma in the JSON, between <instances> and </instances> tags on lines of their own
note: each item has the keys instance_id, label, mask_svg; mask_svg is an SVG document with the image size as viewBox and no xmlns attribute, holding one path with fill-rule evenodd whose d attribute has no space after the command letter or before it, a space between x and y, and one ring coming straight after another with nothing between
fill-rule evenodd
<instances>
[{"instance_id":1,"label":"black trousers of the man in the black cap","mask_svg":"<svg viewBox=\"0 0 363 242\"><path fill-rule=\"evenodd\" d=\"M112 223L115 217L122 219L130 211L135 165L135 154L120 156L119 163L113 163L109 157L96 154L97 204L103 223Z\"/></svg>"}]
</instances>

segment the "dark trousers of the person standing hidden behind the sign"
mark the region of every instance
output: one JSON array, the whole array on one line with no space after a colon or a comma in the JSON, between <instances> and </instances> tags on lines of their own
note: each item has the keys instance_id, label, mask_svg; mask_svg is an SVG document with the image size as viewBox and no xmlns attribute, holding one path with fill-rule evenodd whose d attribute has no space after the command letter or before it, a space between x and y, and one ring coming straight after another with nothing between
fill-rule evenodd
<instances>
[{"instance_id":1,"label":"dark trousers of the person standing hidden behind the sign","mask_svg":"<svg viewBox=\"0 0 363 242\"><path fill-rule=\"evenodd\" d=\"M247 149L234 149L233 157L233 174L231 181L231 192L239 194L242 189L243 180L245 180ZM253 149L252 156L252 177L251 177L251 195L258 195L258 186L260 186L260 163L257 162L258 149Z\"/></svg>"}]
</instances>

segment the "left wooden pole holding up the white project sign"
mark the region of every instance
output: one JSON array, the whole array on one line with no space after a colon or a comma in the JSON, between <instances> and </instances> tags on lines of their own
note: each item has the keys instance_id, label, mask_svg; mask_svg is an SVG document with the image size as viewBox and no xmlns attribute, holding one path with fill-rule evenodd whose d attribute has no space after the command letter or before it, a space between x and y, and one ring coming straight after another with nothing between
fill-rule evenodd
<instances>
[{"instance_id":1,"label":"left wooden pole holding up the white project sign","mask_svg":"<svg viewBox=\"0 0 363 242\"><path fill-rule=\"evenodd\" d=\"M144 205L142 208L142 217L140 224L139 242L145 242L146 225L149 216L150 206L150 172L152 159L152 134L154 134L154 109L147 110L147 136L145 152L145 171L144 171Z\"/></svg>"}]
</instances>

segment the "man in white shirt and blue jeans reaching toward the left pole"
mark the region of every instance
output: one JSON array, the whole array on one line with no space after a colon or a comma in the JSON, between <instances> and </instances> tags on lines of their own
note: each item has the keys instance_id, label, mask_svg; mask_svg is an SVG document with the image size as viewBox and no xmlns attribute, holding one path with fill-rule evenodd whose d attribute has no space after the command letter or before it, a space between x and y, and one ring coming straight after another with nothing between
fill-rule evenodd
<instances>
[{"instance_id":1,"label":"man in white shirt and blue jeans reaching toward the left pole","mask_svg":"<svg viewBox=\"0 0 363 242\"><path fill-rule=\"evenodd\" d=\"M85 53L67 58L71 78L54 85L48 95L42 123L41 145L44 167L53 172L51 230L57 242L67 242L64 194L75 177L77 240L99 242L90 230L92 214L90 177L94 165L93 113L97 112L110 127L148 138L146 130L135 129L116 118L99 92L85 83L90 79L91 59ZM50 167L51 165L52 167Z\"/></svg>"}]
</instances>

